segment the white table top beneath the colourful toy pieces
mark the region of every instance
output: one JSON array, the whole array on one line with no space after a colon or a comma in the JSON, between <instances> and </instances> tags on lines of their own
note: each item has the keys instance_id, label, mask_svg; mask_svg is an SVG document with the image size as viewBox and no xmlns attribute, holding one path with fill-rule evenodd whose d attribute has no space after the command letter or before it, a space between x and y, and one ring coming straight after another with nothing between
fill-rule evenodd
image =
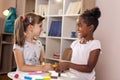
<instances>
[{"instance_id":1,"label":"white table top beneath the colourful toy pieces","mask_svg":"<svg viewBox=\"0 0 120 80\"><path fill-rule=\"evenodd\" d=\"M15 78L15 75L18 74L19 77ZM50 77L49 73L40 73L40 72L9 72L8 77L12 80L24 80L25 76L32 77L32 80L35 80L36 78L44 78L44 77ZM70 72L61 73L61 77L58 77L57 79L51 79L51 80L79 80L79 78L73 76L74 74Z\"/></svg>"}]
</instances>

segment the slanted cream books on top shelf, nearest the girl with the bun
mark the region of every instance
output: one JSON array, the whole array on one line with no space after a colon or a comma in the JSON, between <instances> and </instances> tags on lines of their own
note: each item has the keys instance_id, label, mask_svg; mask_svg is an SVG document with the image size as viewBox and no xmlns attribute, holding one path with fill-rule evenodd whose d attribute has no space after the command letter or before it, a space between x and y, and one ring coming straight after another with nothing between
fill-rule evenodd
<instances>
[{"instance_id":1,"label":"slanted cream books on top shelf, nearest the girl with the bun","mask_svg":"<svg viewBox=\"0 0 120 80\"><path fill-rule=\"evenodd\" d=\"M71 2L68 6L66 14L79 14L82 8L82 1Z\"/></svg>"}]
</instances>

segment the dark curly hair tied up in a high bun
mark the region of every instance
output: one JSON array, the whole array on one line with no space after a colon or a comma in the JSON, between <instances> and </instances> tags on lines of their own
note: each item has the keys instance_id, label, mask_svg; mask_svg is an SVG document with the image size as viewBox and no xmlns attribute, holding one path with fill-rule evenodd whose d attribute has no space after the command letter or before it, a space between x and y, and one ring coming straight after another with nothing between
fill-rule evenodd
<instances>
[{"instance_id":1,"label":"dark curly hair tied up in a high bun","mask_svg":"<svg viewBox=\"0 0 120 80\"><path fill-rule=\"evenodd\" d=\"M101 12L98 7L95 7L91 10L86 10L82 15L80 15L80 17L84 19L84 22L87 24L87 26L94 25L94 31L99 24L98 18L100 16Z\"/></svg>"}]
</instances>

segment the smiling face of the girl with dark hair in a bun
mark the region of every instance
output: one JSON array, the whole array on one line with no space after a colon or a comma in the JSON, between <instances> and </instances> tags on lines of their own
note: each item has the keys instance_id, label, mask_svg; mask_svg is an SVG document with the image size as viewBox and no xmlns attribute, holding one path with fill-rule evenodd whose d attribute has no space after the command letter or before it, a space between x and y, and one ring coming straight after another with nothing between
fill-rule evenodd
<instances>
[{"instance_id":1,"label":"smiling face of the girl with dark hair in a bun","mask_svg":"<svg viewBox=\"0 0 120 80\"><path fill-rule=\"evenodd\" d=\"M79 18L77 20L77 32L78 37L80 38L86 38L90 34L90 26L87 26L87 24L84 22L83 18Z\"/></svg>"}]
</instances>

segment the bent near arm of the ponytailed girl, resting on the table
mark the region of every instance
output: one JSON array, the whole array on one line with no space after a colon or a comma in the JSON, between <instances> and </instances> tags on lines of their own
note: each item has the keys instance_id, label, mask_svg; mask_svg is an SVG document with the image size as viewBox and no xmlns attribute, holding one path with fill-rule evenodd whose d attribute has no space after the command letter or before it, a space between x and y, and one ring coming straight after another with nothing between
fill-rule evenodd
<instances>
[{"instance_id":1,"label":"bent near arm of the ponytailed girl, resting on the table","mask_svg":"<svg viewBox=\"0 0 120 80\"><path fill-rule=\"evenodd\" d=\"M14 56L16 60L17 67L20 71L42 71L44 65L26 65L24 62L23 54L20 50L14 49Z\"/></svg>"}]
</instances>

